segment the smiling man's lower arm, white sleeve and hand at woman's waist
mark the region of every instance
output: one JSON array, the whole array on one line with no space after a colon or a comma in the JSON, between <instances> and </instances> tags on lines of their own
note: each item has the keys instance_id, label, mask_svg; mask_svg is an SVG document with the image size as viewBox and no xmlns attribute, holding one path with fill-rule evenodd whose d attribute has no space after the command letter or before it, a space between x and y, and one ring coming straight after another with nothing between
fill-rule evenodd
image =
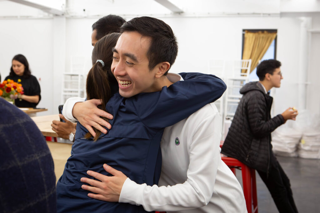
<instances>
[{"instance_id":1,"label":"smiling man's lower arm, white sleeve and hand at woman's waist","mask_svg":"<svg viewBox=\"0 0 320 213\"><path fill-rule=\"evenodd\" d=\"M208 107L211 106L205 106L205 108ZM211 109L211 111L213 110ZM186 156L189 156L186 159L186 161L189 161L187 174L180 174L187 177L184 182L173 186L160 187L156 185L136 184L126 178L121 171L116 171L104 165L104 168L114 176L108 177L88 171L89 175L102 182L82 178L82 182L91 185L83 185L82 188L97 193L89 193L88 196L92 198L142 205L147 211L178 211L205 206L211 199L217 168L221 163L219 148L220 117L216 108L211 114L205 113L202 116L195 118L199 118L201 122L195 123L192 120L189 124L185 124L183 128L185 131L181 132L181 135L184 135L186 140L183 140L183 142L181 140L180 146L188 149ZM187 132L188 137L186 136ZM172 161L175 160L174 157L179 158L181 156L172 156ZM176 160L178 161L178 159ZM170 177L170 174L162 173L161 177L164 178L164 176Z\"/></svg>"}]
</instances>

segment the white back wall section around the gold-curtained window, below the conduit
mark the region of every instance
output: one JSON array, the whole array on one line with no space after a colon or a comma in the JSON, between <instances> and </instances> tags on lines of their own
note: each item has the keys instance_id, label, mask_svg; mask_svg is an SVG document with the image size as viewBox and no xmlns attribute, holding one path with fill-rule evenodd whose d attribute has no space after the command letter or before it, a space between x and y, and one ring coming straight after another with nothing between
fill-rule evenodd
<instances>
[{"instance_id":1,"label":"white back wall section around the gold-curtained window, below the conduit","mask_svg":"<svg viewBox=\"0 0 320 213\"><path fill-rule=\"evenodd\" d=\"M179 52L171 72L207 72L209 59L241 59L242 29L277 29L277 59L284 80L276 90L275 113L298 106L300 20L279 17L161 18L176 34ZM67 19L66 57L88 57L91 25L97 19ZM130 18L127 18L130 20ZM67 62L68 63L68 62ZM292 92L287 92L287 91Z\"/></svg>"}]
</instances>

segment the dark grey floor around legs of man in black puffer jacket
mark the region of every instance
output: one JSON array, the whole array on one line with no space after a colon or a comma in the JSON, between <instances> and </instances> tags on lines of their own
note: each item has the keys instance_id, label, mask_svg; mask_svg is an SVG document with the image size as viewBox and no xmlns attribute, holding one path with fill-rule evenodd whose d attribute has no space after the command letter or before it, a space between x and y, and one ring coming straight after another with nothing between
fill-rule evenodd
<instances>
[{"instance_id":1,"label":"dark grey floor around legs of man in black puffer jacket","mask_svg":"<svg viewBox=\"0 0 320 213\"><path fill-rule=\"evenodd\" d=\"M277 156L290 179L293 198L300 213L320 212L320 160ZM242 184L241 171L236 176ZM272 197L256 172L259 213L278 212Z\"/></svg>"}]
</instances>

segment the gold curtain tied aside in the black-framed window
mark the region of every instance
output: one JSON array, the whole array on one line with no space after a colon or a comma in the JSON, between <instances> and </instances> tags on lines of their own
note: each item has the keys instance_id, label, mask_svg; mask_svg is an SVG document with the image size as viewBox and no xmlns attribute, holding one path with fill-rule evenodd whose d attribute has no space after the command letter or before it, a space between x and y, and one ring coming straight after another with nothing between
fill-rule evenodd
<instances>
[{"instance_id":1,"label":"gold curtain tied aside in the black-framed window","mask_svg":"<svg viewBox=\"0 0 320 213\"><path fill-rule=\"evenodd\" d=\"M277 33L264 32L249 32L244 34L244 48L242 59L251 59L250 73L256 68L259 60L267 52L270 44L275 40ZM241 72L245 72L242 70Z\"/></svg>"}]
</instances>

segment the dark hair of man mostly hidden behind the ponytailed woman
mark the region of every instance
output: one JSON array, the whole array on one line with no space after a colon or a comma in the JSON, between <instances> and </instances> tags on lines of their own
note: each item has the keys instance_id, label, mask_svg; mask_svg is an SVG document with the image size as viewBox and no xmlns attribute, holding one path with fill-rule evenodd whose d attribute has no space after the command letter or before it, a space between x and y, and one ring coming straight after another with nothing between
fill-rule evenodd
<instances>
[{"instance_id":1,"label":"dark hair of man mostly hidden behind the ponytailed woman","mask_svg":"<svg viewBox=\"0 0 320 213\"><path fill-rule=\"evenodd\" d=\"M116 15L104 16L92 25L92 31L96 30L96 39L99 40L109 33L119 33L125 20Z\"/></svg>"}]
</instances>

